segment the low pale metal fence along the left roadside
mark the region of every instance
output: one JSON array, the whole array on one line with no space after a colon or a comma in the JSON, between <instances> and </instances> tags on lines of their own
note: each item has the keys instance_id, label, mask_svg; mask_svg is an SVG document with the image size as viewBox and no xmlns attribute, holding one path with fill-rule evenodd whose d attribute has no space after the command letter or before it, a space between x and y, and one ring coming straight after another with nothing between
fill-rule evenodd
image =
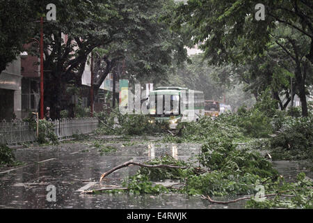
<instances>
[{"instance_id":1,"label":"low pale metal fence along the left roadside","mask_svg":"<svg viewBox=\"0 0 313 223\"><path fill-rule=\"evenodd\" d=\"M50 120L51 121L51 120ZM62 118L51 121L54 123L54 132L58 139L70 137L73 134L86 134L97 129L99 121L97 118ZM31 128L28 122L13 120L0 122L0 143L19 144L28 141L35 141L36 131Z\"/></svg>"}]
</instances>

